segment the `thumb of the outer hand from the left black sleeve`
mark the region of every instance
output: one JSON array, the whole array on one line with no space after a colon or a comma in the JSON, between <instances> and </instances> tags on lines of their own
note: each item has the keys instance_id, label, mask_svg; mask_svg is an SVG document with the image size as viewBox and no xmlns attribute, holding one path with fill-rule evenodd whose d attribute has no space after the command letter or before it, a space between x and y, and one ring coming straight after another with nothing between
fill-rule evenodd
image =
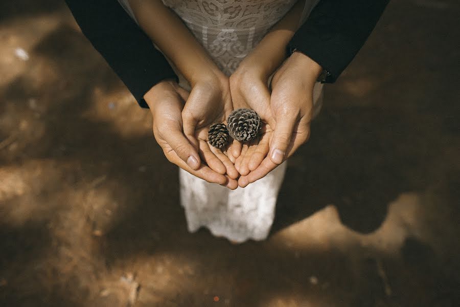
<instances>
[{"instance_id":1,"label":"thumb of the outer hand from the left black sleeve","mask_svg":"<svg viewBox=\"0 0 460 307\"><path fill-rule=\"evenodd\" d=\"M185 161L190 168L197 170L200 167L200 156L197 150L190 144L180 129L171 129L164 136L165 141L171 146L176 155Z\"/></svg>"}]
</instances>

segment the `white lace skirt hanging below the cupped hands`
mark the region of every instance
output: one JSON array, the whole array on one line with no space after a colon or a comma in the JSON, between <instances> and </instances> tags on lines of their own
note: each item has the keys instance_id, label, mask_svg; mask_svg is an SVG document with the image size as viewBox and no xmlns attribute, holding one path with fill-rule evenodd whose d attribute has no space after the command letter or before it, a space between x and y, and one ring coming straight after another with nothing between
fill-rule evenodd
<instances>
[{"instance_id":1,"label":"white lace skirt hanging below the cupped hands","mask_svg":"<svg viewBox=\"0 0 460 307\"><path fill-rule=\"evenodd\" d=\"M319 83L315 86L313 117L322 105L322 87ZM213 235L236 243L266 239L286 167L284 162L264 178L236 190L206 182L179 168L180 203L188 230L205 227Z\"/></svg>"}]
</instances>

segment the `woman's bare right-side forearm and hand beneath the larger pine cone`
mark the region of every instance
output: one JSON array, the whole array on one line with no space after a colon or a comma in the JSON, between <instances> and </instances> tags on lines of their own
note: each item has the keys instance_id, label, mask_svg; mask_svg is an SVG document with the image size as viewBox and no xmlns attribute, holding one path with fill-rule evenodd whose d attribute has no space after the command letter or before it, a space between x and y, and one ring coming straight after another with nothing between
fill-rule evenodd
<instances>
[{"instance_id":1,"label":"woman's bare right-side forearm and hand beneath the larger pine cone","mask_svg":"<svg viewBox=\"0 0 460 307\"><path fill-rule=\"evenodd\" d=\"M257 140L247 145L235 141L232 146L232 154L237 158L235 167L242 176L258 168L268 154L269 140L275 125L270 107L268 78L286 59L286 46L300 24L304 4L303 1L297 1L230 77L235 108L254 109L264 123L262 134Z\"/></svg>"}]
</instances>

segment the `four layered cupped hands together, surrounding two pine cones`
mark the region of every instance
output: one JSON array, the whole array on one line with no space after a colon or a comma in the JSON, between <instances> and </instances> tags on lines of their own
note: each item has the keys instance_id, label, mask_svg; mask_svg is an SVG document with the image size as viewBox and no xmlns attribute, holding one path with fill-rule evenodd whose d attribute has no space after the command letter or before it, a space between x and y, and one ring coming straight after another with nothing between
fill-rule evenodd
<instances>
[{"instance_id":1,"label":"four layered cupped hands together, surrounding two pine cones","mask_svg":"<svg viewBox=\"0 0 460 307\"><path fill-rule=\"evenodd\" d=\"M166 158L196 177L229 189L246 187L283 163L310 135L313 87L320 67L293 53L274 72L244 61L227 77L219 70L197 73L188 92L173 80L159 82L144 96L153 116L153 135ZM208 142L209 126L226 123L237 108L250 108L263 125L248 144L236 140L218 149Z\"/></svg>"}]
</instances>

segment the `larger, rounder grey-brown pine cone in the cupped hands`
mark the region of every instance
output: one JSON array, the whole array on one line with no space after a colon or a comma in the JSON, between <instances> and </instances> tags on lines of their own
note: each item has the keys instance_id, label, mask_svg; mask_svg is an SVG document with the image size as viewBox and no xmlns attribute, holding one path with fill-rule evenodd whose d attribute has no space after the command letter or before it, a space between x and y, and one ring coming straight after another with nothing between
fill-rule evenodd
<instances>
[{"instance_id":1,"label":"larger, rounder grey-brown pine cone in the cupped hands","mask_svg":"<svg viewBox=\"0 0 460 307\"><path fill-rule=\"evenodd\" d=\"M230 113L227 119L228 133L237 141L255 139L262 127L262 122L256 111L239 108Z\"/></svg>"}]
</instances>

